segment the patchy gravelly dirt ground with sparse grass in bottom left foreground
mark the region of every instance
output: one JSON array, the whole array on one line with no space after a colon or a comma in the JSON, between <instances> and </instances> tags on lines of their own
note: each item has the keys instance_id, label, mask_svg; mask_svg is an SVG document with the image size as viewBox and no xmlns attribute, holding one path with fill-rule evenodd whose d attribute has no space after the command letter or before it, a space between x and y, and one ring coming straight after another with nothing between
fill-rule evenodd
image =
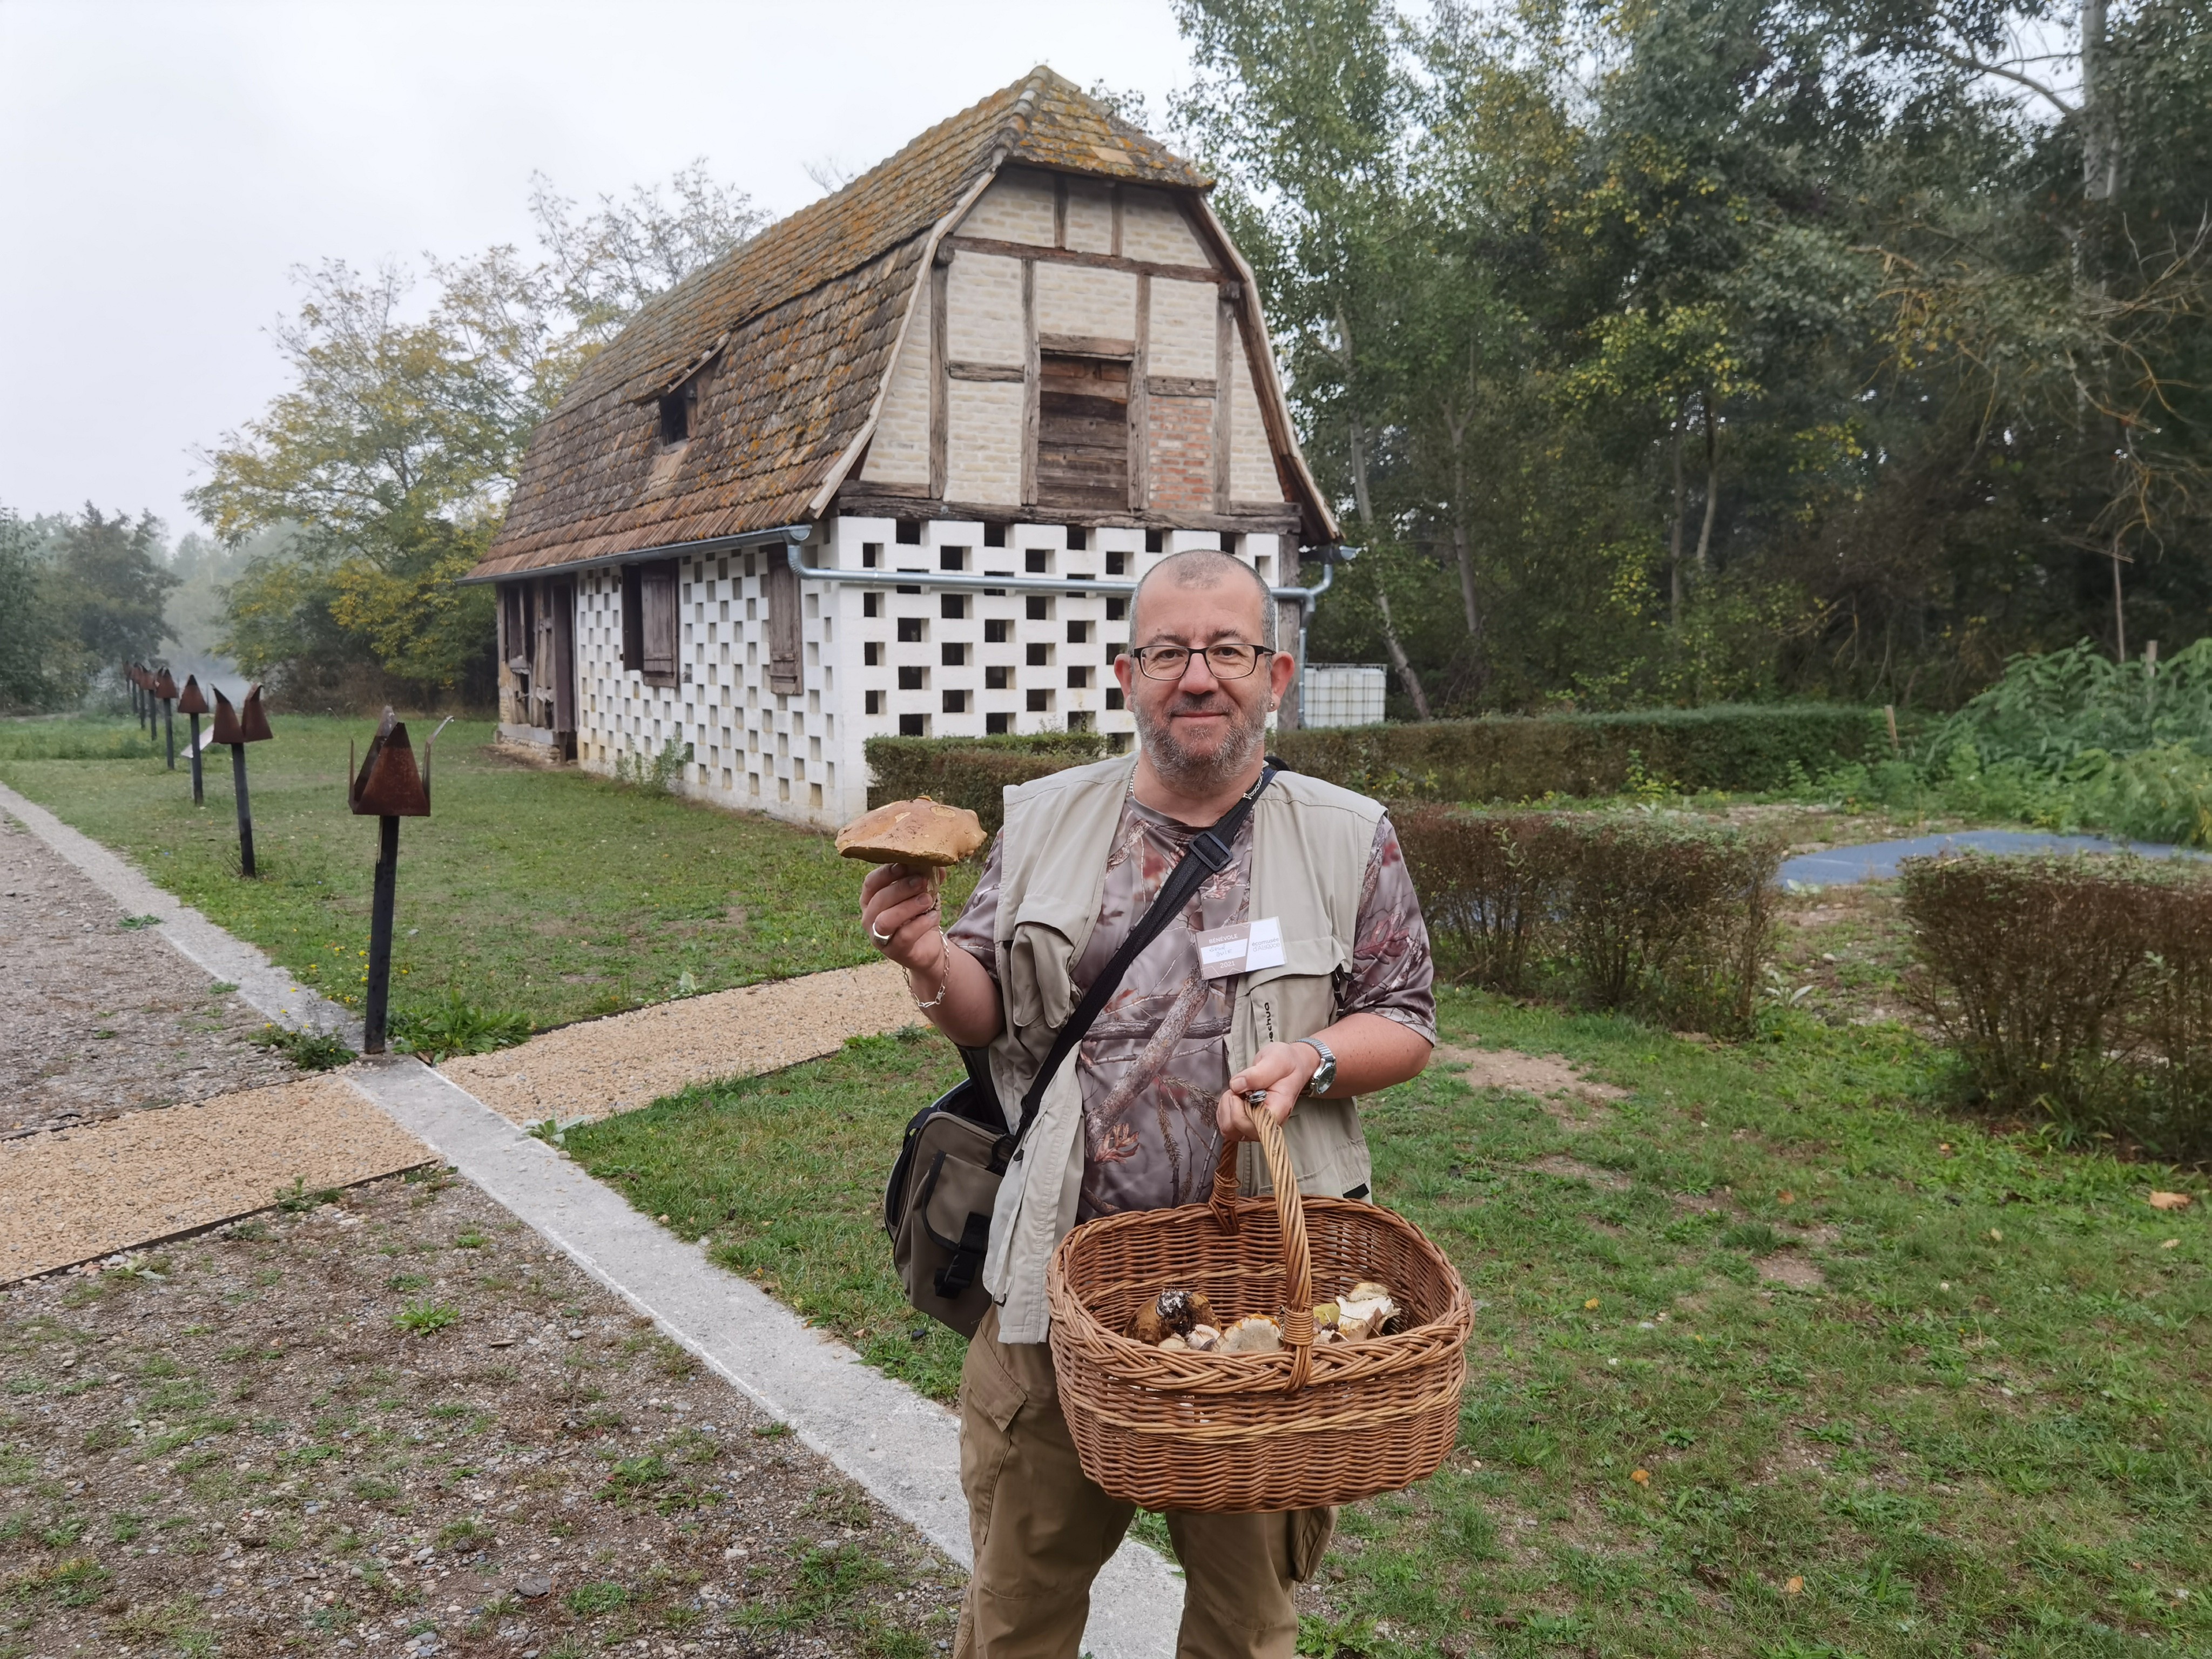
<instances>
[{"instance_id":1,"label":"patchy gravelly dirt ground with sparse grass in bottom left foreground","mask_svg":"<svg viewBox=\"0 0 2212 1659\"><path fill-rule=\"evenodd\" d=\"M451 1177L20 1283L0 1374L9 1659L951 1639L956 1568Z\"/></svg>"}]
</instances>

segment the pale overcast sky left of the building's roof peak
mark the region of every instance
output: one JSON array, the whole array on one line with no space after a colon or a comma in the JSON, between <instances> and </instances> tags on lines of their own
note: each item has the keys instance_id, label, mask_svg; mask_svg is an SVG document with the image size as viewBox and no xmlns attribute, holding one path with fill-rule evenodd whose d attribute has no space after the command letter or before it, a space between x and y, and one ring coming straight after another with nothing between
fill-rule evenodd
<instances>
[{"instance_id":1,"label":"pale overcast sky left of the building's roof peak","mask_svg":"<svg viewBox=\"0 0 2212 1659\"><path fill-rule=\"evenodd\" d=\"M1188 77L1168 0L0 0L0 504L195 529L292 265L531 246L533 170L790 212L1037 62Z\"/></svg>"}]
</instances>

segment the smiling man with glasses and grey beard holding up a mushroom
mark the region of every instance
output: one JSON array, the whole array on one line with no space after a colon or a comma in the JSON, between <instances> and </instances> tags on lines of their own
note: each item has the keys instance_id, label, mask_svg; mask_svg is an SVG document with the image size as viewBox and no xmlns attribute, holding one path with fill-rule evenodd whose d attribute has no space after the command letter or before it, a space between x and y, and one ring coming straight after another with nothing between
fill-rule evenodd
<instances>
[{"instance_id":1,"label":"smiling man with glasses and grey beard holding up a mushroom","mask_svg":"<svg viewBox=\"0 0 2212 1659\"><path fill-rule=\"evenodd\" d=\"M885 865L863 885L876 947L938 1029L989 1048L1020 1102L1084 987L1144 916L1190 838L1259 783L1267 712L1294 664L1252 566L1179 553L1144 577L1115 661L1133 759L1006 794L1006 825L967 911L940 931L936 889ZM1208 978L1194 933L1252 922L1250 967ZM1272 960L1270 960L1272 958ZM1217 964L1219 967L1219 964ZM1230 964L1237 967L1234 962ZM1075 1659L1091 1579L1130 1506L1075 1458L1046 1343L1044 1267L1075 1221L1206 1197L1223 1137L1250 1139L1267 1091L1303 1192L1367 1197L1354 1095L1405 1082L1436 1042L1429 936L1374 801L1279 774L1232 863L1139 956L1044 1095L1000 1188L984 1285L995 1307L960 1376L960 1484L975 1573L956 1659ZM1245 1190L1265 1190L1241 1148ZM1186 1575L1181 1659L1290 1659L1292 1586L1334 1511L1168 1515Z\"/></svg>"}]
</instances>

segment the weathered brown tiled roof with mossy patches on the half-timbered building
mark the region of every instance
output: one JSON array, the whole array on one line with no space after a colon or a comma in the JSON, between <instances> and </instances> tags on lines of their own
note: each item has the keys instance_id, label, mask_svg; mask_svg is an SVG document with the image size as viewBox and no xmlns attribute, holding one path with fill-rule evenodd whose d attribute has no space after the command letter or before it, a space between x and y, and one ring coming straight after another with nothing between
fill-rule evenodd
<instances>
[{"instance_id":1,"label":"weathered brown tiled roof with mossy patches on the half-timbered building","mask_svg":"<svg viewBox=\"0 0 2212 1659\"><path fill-rule=\"evenodd\" d=\"M1009 161L1208 186L1073 82L1033 71L639 310L538 429L473 575L803 520L869 418L931 232ZM695 436L664 453L657 398L710 354Z\"/></svg>"}]
</instances>

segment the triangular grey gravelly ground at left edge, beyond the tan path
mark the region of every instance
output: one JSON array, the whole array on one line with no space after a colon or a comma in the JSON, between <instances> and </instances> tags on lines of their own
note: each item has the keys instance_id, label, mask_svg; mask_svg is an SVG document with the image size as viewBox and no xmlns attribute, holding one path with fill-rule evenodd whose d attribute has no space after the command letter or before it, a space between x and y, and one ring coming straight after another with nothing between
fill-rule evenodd
<instances>
[{"instance_id":1,"label":"triangular grey gravelly ground at left edge, beyond the tan path","mask_svg":"<svg viewBox=\"0 0 2212 1659\"><path fill-rule=\"evenodd\" d=\"M0 814L0 1137L299 1077L217 989Z\"/></svg>"}]
</instances>

